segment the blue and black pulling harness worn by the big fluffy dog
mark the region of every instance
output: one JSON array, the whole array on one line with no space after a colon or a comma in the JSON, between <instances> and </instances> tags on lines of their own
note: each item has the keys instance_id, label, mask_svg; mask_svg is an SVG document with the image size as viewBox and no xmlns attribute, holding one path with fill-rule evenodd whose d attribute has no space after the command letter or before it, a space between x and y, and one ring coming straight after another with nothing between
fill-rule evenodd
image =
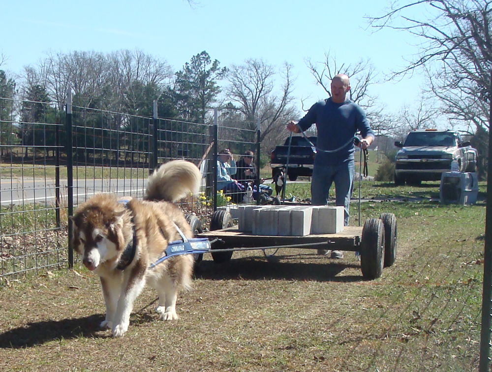
<instances>
[{"instance_id":1,"label":"blue and black pulling harness worn by the big fluffy dog","mask_svg":"<svg viewBox=\"0 0 492 372\"><path fill-rule=\"evenodd\" d=\"M124 204L125 208L128 208L131 211L131 209L128 207L128 201L129 200L120 200L120 202ZM116 266L116 268L119 270L124 270L131 263L131 261L133 261L133 258L135 258L135 253L137 251L137 236L135 230L135 223L133 222L133 216L131 218L131 222L133 223L133 236L131 241L128 242L128 244L126 245L123 254L120 258L120 261ZM161 256L159 259L157 259L157 261L149 265L150 269L154 268L159 263L173 256L186 255L191 253L200 254L200 253L207 253L210 251L211 243L209 239L207 238L187 239L186 236L184 236L183 231L181 231L181 229L178 227L178 225L174 224L174 227L181 235L183 240L175 240L169 243L167 245L166 250L164 251L164 255ZM164 232L162 230L160 232L164 236Z\"/></svg>"}]
</instances>

